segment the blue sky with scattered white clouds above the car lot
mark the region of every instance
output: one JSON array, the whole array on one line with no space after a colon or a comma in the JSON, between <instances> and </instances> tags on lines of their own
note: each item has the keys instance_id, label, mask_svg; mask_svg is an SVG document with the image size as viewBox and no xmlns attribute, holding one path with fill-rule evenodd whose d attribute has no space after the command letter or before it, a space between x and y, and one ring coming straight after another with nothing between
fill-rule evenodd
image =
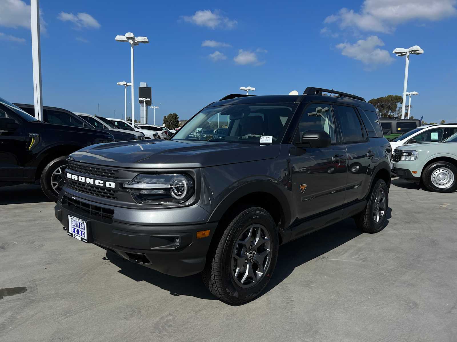
<instances>
[{"instance_id":1,"label":"blue sky with scattered white clouds above the car lot","mask_svg":"<svg viewBox=\"0 0 457 342\"><path fill-rule=\"evenodd\" d=\"M188 119L240 86L401 94L405 61L391 52L413 45L425 53L410 58L408 91L419 92L411 113L457 122L456 1L341 3L42 0L43 104L90 114L100 104L102 116L121 117L116 83L130 81L130 47L114 38L130 31L149 38L135 47L135 98L139 82L153 87L159 123L172 112ZM0 97L33 103L29 1L0 0L0 46Z\"/></svg>"}]
</instances>

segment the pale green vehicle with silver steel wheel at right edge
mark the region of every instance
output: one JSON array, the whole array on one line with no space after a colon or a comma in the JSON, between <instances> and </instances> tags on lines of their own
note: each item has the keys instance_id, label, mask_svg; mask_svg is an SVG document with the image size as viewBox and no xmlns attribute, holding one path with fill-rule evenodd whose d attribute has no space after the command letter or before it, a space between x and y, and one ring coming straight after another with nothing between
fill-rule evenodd
<instances>
[{"instance_id":1,"label":"pale green vehicle with silver steel wheel at right edge","mask_svg":"<svg viewBox=\"0 0 457 342\"><path fill-rule=\"evenodd\" d=\"M457 190L457 133L441 142L398 146L392 171L433 192Z\"/></svg>"}]
</instances>

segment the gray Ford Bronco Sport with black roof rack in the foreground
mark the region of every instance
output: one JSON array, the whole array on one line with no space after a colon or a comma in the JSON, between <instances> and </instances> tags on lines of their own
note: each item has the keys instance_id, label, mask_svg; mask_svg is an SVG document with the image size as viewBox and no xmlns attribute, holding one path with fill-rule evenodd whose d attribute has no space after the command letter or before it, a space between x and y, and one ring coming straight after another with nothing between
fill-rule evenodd
<instances>
[{"instance_id":1,"label":"gray Ford Bronco Sport with black roof rack in the foreground","mask_svg":"<svg viewBox=\"0 0 457 342\"><path fill-rule=\"evenodd\" d=\"M384 228L390 152L358 96L232 94L171 140L69 155L55 216L75 239L168 275L201 272L242 304L265 289L280 244L349 217Z\"/></svg>"}]
</instances>

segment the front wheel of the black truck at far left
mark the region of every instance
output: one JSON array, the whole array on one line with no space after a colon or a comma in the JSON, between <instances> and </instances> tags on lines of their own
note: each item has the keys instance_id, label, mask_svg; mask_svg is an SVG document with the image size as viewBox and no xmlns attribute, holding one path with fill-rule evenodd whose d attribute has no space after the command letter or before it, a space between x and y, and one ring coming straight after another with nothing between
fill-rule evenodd
<instances>
[{"instance_id":1,"label":"front wheel of the black truck at far left","mask_svg":"<svg viewBox=\"0 0 457 342\"><path fill-rule=\"evenodd\" d=\"M68 155L64 155L54 159L46 165L41 173L41 188L51 201L57 201L57 196L65 184L64 171L68 165L67 158ZM58 176L58 173L54 174L54 172L58 172L58 170L61 172L60 177ZM57 186L56 182L58 183Z\"/></svg>"}]
</instances>

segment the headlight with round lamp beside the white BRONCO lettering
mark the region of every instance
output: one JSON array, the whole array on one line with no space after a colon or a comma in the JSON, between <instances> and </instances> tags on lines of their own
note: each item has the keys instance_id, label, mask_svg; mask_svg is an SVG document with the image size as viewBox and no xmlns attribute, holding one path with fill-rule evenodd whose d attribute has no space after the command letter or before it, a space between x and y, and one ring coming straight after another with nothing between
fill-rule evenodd
<instances>
[{"instance_id":1,"label":"headlight with round lamp beside the white BRONCO lettering","mask_svg":"<svg viewBox=\"0 0 457 342\"><path fill-rule=\"evenodd\" d=\"M194 194L192 178L182 174L142 174L123 184L140 203L184 203Z\"/></svg>"}]
</instances>

